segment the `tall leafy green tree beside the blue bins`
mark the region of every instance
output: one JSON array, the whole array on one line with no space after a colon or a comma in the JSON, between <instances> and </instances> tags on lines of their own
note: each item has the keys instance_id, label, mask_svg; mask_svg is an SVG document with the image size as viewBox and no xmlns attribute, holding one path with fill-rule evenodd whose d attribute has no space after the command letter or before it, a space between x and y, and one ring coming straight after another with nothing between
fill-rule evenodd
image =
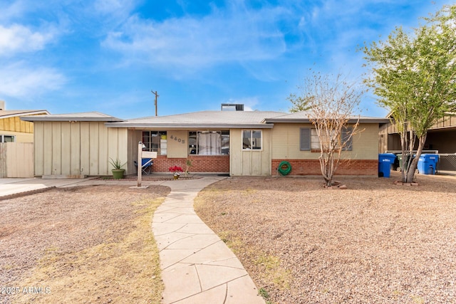
<instances>
[{"instance_id":1,"label":"tall leafy green tree beside the blue bins","mask_svg":"<svg viewBox=\"0 0 456 304\"><path fill-rule=\"evenodd\" d=\"M456 108L456 5L424 20L412 33L397 27L387 40L363 48L372 68L366 83L400 132L403 182L413 182L427 130Z\"/></svg>"}]
</instances>

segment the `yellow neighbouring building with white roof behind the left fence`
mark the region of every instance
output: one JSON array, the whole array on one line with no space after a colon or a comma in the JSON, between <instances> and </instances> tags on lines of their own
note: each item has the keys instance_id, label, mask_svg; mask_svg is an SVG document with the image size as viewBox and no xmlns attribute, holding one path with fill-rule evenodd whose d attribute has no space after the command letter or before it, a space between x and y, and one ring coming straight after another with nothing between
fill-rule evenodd
<instances>
[{"instance_id":1,"label":"yellow neighbouring building with white roof behind the left fence","mask_svg":"<svg viewBox=\"0 0 456 304\"><path fill-rule=\"evenodd\" d=\"M45 115L46 110L5 110L0 101L0 142L33 142L33 122L21 120L21 116Z\"/></svg>"}]
</instances>

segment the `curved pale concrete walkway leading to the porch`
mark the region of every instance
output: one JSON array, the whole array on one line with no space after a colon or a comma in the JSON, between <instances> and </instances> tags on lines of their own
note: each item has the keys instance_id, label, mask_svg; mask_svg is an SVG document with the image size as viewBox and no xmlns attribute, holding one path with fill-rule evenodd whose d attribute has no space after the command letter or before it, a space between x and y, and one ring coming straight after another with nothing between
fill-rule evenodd
<instances>
[{"instance_id":1,"label":"curved pale concrete walkway leading to the porch","mask_svg":"<svg viewBox=\"0 0 456 304\"><path fill-rule=\"evenodd\" d=\"M163 304L264 304L237 257L193 209L198 192L223 178L152 182L171 188L152 220L165 284Z\"/></svg>"}]
</instances>

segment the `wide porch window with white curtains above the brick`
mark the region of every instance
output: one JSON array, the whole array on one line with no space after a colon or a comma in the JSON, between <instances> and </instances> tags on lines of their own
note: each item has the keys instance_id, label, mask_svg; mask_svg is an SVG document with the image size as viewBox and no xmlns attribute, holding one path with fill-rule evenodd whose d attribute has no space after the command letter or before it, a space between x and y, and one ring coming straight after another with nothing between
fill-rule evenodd
<instances>
[{"instance_id":1,"label":"wide porch window with white curtains above the brick","mask_svg":"<svg viewBox=\"0 0 456 304\"><path fill-rule=\"evenodd\" d=\"M188 154L229 154L229 130L188 133Z\"/></svg>"}]
</instances>

